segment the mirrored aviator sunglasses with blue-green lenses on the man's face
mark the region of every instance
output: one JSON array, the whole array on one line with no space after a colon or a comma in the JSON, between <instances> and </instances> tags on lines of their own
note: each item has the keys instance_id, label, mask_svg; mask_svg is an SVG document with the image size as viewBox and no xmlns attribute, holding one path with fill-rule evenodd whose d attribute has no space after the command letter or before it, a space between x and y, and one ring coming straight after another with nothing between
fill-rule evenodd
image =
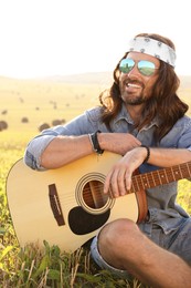
<instances>
[{"instance_id":1,"label":"mirrored aviator sunglasses with blue-green lenses on the man's face","mask_svg":"<svg viewBox=\"0 0 191 288\"><path fill-rule=\"evenodd\" d=\"M135 62L132 59L126 58L120 61L119 70L123 73L129 73L136 64L138 71L145 76L151 76L155 73L156 69L159 69L156 68L156 64L153 62L147 60L140 60L138 62Z\"/></svg>"}]
</instances>

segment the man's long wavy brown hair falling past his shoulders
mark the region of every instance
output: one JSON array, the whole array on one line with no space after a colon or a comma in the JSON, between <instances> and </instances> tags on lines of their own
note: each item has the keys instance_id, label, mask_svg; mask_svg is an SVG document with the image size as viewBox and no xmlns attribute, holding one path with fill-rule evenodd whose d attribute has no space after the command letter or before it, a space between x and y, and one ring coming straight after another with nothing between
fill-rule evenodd
<instances>
[{"instance_id":1,"label":"man's long wavy brown hair falling past his shoulders","mask_svg":"<svg viewBox=\"0 0 191 288\"><path fill-rule=\"evenodd\" d=\"M141 33L136 37L148 37L159 40L174 49L174 44L171 40L159 34ZM127 54L128 52L125 53L121 59L125 59ZM103 106L102 120L108 128L110 128L110 122L119 113L123 105L119 91L119 63L120 61L114 70L114 83L110 89L103 91L99 95L99 102ZM159 117L159 127L155 132L155 137L156 141L159 142L189 109L189 106L182 102L177 94L179 85L180 80L173 68L163 61L160 61L159 76L153 85L152 96L146 102L142 117L139 123L135 124L135 128L141 130L157 115Z\"/></svg>"}]
</instances>

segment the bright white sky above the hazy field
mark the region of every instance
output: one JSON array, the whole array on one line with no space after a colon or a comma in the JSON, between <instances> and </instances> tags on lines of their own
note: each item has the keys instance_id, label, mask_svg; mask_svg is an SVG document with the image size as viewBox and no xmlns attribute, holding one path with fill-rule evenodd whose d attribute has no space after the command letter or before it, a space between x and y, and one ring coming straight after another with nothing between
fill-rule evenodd
<instances>
[{"instance_id":1,"label":"bright white sky above the hazy field","mask_svg":"<svg viewBox=\"0 0 191 288\"><path fill-rule=\"evenodd\" d=\"M113 71L129 39L159 33L191 75L188 0L0 0L0 75L31 79Z\"/></svg>"}]
</instances>

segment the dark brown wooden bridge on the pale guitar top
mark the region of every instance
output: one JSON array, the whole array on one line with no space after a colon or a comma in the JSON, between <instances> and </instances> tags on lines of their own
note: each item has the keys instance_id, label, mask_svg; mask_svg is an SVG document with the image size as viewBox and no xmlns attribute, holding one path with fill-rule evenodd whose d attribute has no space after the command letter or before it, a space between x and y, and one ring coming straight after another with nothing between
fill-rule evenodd
<instances>
[{"instance_id":1,"label":"dark brown wooden bridge on the pale guitar top","mask_svg":"<svg viewBox=\"0 0 191 288\"><path fill-rule=\"evenodd\" d=\"M50 205L59 226L65 225L55 184L49 185Z\"/></svg>"}]
</instances>

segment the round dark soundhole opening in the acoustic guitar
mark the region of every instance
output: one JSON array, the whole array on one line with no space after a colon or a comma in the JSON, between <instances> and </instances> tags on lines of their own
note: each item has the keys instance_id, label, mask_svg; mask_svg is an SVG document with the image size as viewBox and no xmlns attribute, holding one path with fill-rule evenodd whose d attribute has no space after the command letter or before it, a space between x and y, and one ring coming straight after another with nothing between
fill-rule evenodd
<instances>
[{"instance_id":1,"label":"round dark soundhole opening in the acoustic guitar","mask_svg":"<svg viewBox=\"0 0 191 288\"><path fill-rule=\"evenodd\" d=\"M84 203L93 209L104 207L108 200L108 196L103 193L104 184L99 181L91 181L86 183L83 189Z\"/></svg>"}]
</instances>

